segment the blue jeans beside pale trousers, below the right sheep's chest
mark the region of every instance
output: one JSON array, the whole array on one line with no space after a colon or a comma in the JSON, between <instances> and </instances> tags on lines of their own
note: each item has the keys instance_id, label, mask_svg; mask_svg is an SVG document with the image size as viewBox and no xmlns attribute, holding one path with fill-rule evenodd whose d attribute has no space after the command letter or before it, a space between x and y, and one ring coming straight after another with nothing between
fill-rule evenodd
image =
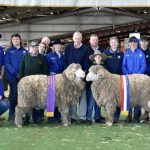
<instances>
[{"instance_id":1,"label":"blue jeans beside pale trousers, below the right sheep's chest","mask_svg":"<svg viewBox=\"0 0 150 150\"><path fill-rule=\"evenodd\" d=\"M94 119L100 119L101 108L96 104L95 99L92 95L90 85L87 86L87 120L92 121L93 109L95 110Z\"/></svg>"}]
</instances>

